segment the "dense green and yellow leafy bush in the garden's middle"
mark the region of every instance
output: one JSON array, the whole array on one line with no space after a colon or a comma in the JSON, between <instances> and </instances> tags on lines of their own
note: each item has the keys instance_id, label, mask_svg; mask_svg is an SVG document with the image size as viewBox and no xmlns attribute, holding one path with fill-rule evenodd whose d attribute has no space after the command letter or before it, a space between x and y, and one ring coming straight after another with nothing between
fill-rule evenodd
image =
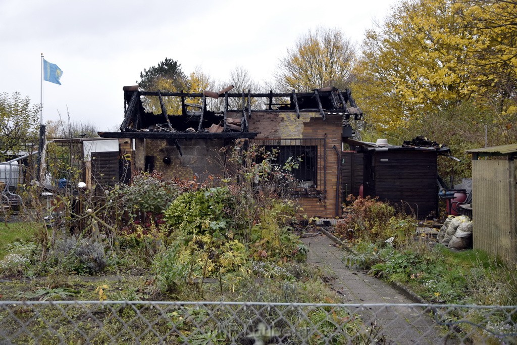
<instances>
[{"instance_id":1,"label":"dense green and yellow leafy bush in the garden's middle","mask_svg":"<svg viewBox=\"0 0 517 345\"><path fill-rule=\"evenodd\" d=\"M234 238L231 207L233 197L227 187L188 191L172 202L164 217L170 245L153 264L161 292L177 292L182 284L198 279L201 293L205 277L221 280L221 275L241 267L248 254Z\"/></svg>"}]
</instances>

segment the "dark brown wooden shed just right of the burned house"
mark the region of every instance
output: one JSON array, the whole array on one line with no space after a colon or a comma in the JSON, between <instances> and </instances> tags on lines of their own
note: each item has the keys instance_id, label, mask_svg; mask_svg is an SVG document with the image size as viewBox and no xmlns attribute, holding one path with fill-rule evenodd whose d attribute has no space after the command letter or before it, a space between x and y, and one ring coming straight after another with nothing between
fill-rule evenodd
<instances>
[{"instance_id":1,"label":"dark brown wooden shed just right of the burned house","mask_svg":"<svg viewBox=\"0 0 517 345\"><path fill-rule=\"evenodd\" d=\"M399 205L418 219L438 215L437 156L448 147L396 146L347 140L363 154L363 195Z\"/></svg>"}]
</instances>

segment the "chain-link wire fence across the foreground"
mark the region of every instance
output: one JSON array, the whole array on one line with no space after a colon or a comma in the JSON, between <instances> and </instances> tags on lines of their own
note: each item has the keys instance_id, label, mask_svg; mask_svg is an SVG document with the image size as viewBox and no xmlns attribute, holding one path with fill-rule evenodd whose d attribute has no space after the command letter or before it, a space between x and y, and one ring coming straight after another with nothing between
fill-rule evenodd
<instances>
[{"instance_id":1,"label":"chain-link wire fence across the foreground","mask_svg":"<svg viewBox=\"0 0 517 345\"><path fill-rule=\"evenodd\" d=\"M517 343L517 306L0 302L0 344Z\"/></svg>"}]
</instances>

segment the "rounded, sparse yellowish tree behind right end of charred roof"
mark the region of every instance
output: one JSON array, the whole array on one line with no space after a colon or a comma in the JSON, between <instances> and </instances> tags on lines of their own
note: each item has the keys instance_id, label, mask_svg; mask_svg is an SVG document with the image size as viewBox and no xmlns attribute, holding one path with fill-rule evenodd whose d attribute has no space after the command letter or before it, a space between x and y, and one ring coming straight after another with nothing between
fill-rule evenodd
<instances>
[{"instance_id":1,"label":"rounded, sparse yellowish tree behind right end of charred roof","mask_svg":"<svg viewBox=\"0 0 517 345\"><path fill-rule=\"evenodd\" d=\"M280 59L275 79L282 91L309 92L315 88L345 88L352 79L354 44L338 29L319 27L298 39Z\"/></svg>"}]
</instances>

